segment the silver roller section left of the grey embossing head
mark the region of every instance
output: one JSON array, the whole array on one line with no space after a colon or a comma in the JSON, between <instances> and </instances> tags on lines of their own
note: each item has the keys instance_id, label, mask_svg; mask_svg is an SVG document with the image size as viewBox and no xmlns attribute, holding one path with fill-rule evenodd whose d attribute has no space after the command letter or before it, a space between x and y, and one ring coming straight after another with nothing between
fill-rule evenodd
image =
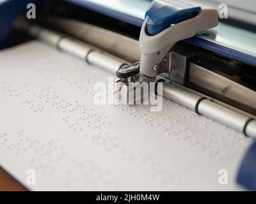
<instances>
[{"instance_id":1,"label":"silver roller section left of the grey embossing head","mask_svg":"<svg viewBox=\"0 0 256 204\"><path fill-rule=\"evenodd\" d=\"M99 48L95 48L92 45L88 45L83 41L63 36L62 34L52 32L38 25L29 24L26 21L22 21L22 25L20 25L20 23L15 24L15 27L29 33L35 38L47 42L61 52L83 59L88 62L88 64L98 66L113 74L115 74L121 66L124 66L124 64L129 64L129 62L124 59L108 54L107 52L99 50Z\"/></svg>"}]
</instances>

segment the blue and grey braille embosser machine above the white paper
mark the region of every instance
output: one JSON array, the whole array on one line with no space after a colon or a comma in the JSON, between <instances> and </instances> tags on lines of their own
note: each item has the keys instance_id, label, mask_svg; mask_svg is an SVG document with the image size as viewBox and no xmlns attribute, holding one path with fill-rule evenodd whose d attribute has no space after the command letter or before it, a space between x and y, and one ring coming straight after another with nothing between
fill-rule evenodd
<instances>
[{"instance_id":1,"label":"blue and grey braille embosser machine above the white paper","mask_svg":"<svg viewBox=\"0 0 256 204\"><path fill-rule=\"evenodd\" d=\"M162 83L164 98L256 138L253 11L228 2L228 19L219 19L214 1L33 1L29 19L28 3L0 2L2 48L39 38L117 75L117 85ZM250 179L238 180L253 189Z\"/></svg>"}]
</instances>

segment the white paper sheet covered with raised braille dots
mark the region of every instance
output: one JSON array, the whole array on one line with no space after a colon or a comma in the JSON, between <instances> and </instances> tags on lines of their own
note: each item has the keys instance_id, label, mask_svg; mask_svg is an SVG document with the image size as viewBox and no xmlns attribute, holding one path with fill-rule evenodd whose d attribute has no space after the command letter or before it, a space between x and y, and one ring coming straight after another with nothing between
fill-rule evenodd
<instances>
[{"instance_id":1,"label":"white paper sheet covered with raised braille dots","mask_svg":"<svg viewBox=\"0 0 256 204\"><path fill-rule=\"evenodd\" d=\"M40 41L1 51L1 166L31 190L240 189L250 139L166 99L161 112L97 106L93 84L110 76Z\"/></svg>"}]
</instances>

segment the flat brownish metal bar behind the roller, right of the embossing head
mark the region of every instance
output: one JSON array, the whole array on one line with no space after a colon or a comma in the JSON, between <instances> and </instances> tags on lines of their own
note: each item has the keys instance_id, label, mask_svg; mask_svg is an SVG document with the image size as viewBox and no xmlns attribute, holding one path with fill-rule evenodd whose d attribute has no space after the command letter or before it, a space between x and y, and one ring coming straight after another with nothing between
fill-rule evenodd
<instances>
[{"instance_id":1,"label":"flat brownish metal bar behind the roller, right of the embossing head","mask_svg":"<svg viewBox=\"0 0 256 204\"><path fill-rule=\"evenodd\" d=\"M214 98L222 98L232 106L256 114L256 92L213 71L190 62L188 64L188 87L200 92L211 92Z\"/></svg>"}]
</instances>

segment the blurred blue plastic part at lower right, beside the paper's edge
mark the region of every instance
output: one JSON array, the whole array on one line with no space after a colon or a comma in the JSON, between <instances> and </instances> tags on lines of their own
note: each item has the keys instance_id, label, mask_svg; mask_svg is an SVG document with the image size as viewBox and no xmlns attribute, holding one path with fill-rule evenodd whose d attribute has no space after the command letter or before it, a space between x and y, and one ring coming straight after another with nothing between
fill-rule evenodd
<instances>
[{"instance_id":1,"label":"blurred blue plastic part at lower right, beside the paper's edge","mask_svg":"<svg viewBox=\"0 0 256 204\"><path fill-rule=\"evenodd\" d=\"M246 189L256 191L256 142L252 144L244 156L238 171L237 183Z\"/></svg>"}]
</instances>

